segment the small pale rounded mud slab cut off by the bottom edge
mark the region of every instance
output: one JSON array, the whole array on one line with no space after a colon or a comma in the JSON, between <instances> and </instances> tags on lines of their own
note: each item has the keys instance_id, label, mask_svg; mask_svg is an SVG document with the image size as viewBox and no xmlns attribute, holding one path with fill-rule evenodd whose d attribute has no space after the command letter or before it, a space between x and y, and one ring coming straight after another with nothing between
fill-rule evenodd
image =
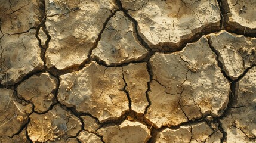
<instances>
[{"instance_id":1,"label":"small pale rounded mud slab cut off by the bottom edge","mask_svg":"<svg viewBox=\"0 0 256 143\"><path fill-rule=\"evenodd\" d=\"M78 139L82 143L102 143L100 137L85 130L79 133Z\"/></svg>"}]
</instances>

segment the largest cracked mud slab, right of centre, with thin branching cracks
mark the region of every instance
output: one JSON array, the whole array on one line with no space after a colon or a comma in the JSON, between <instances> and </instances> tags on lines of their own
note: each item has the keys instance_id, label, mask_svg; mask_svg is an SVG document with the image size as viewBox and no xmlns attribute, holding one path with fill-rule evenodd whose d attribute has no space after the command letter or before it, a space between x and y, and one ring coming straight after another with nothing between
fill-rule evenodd
<instances>
[{"instance_id":1,"label":"largest cracked mud slab, right of centre, with thin branching cracks","mask_svg":"<svg viewBox=\"0 0 256 143\"><path fill-rule=\"evenodd\" d=\"M191 54L193 53L193 54ZM150 58L153 80L145 115L157 128L175 126L206 114L218 117L229 102L229 81L221 73L205 37L180 52Z\"/></svg>"}]
</instances>

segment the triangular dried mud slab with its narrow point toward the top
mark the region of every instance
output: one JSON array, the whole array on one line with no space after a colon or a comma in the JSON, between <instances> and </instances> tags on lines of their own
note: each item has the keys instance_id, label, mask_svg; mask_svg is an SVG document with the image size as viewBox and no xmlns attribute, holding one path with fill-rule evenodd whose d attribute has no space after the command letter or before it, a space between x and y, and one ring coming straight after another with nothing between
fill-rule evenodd
<instances>
[{"instance_id":1,"label":"triangular dried mud slab with its narrow point toward the top","mask_svg":"<svg viewBox=\"0 0 256 143\"><path fill-rule=\"evenodd\" d=\"M140 45L132 21L121 11L110 18L104 29L92 57L107 65L118 65L131 61L140 61L147 50Z\"/></svg>"}]
</instances>

